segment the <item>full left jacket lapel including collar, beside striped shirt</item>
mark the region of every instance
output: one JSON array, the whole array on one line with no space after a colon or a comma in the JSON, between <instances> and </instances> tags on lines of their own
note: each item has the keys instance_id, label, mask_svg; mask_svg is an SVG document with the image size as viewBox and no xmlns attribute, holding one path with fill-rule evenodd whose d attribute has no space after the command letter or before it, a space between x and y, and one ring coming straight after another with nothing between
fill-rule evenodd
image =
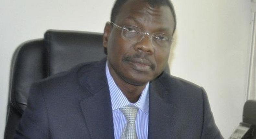
<instances>
[{"instance_id":1,"label":"full left jacket lapel including collar, beside striped shirt","mask_svg":"<svg viewBox=\"0 0 256 139\"><path fill-rule=\"evenodd\" d=\"M79 82L86 98L80 102L85 121L93 139L114 138L109 87L105 73L106 59L93 67L82 69ZM89 94L89 95L88 95Z\"/></svg>"}]
</instances>

